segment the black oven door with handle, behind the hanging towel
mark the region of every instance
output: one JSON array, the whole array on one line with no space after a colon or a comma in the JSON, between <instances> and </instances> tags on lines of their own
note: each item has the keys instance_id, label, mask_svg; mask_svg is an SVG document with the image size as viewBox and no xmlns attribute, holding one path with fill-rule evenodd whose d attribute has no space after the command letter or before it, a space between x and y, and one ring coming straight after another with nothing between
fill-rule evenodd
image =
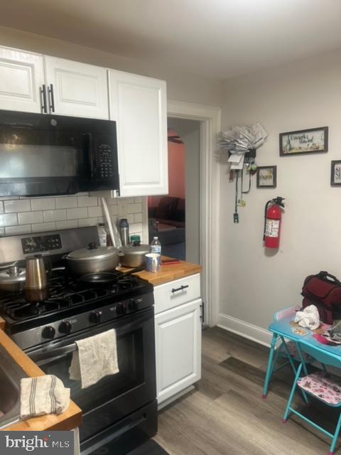
<instances>
[{"instance_id":1,"label":"black oven door with handle, behind the hanging towel","mask_svg":"<svg viewBox=\"0 0 341 455\"><path fill-rule=\"evenodd\" d=\"M80 381L70 380L73 343L110 328L117 331L119 373L81 389ZM114 422L151 402L156 397L155 338L153 308L126 316L119 321L91 328L67 341L53 343L28 355L40 368L60 378L70 387L71 399L83 414L80 440L86 441Z\"/></svg>"}]
</instances>

